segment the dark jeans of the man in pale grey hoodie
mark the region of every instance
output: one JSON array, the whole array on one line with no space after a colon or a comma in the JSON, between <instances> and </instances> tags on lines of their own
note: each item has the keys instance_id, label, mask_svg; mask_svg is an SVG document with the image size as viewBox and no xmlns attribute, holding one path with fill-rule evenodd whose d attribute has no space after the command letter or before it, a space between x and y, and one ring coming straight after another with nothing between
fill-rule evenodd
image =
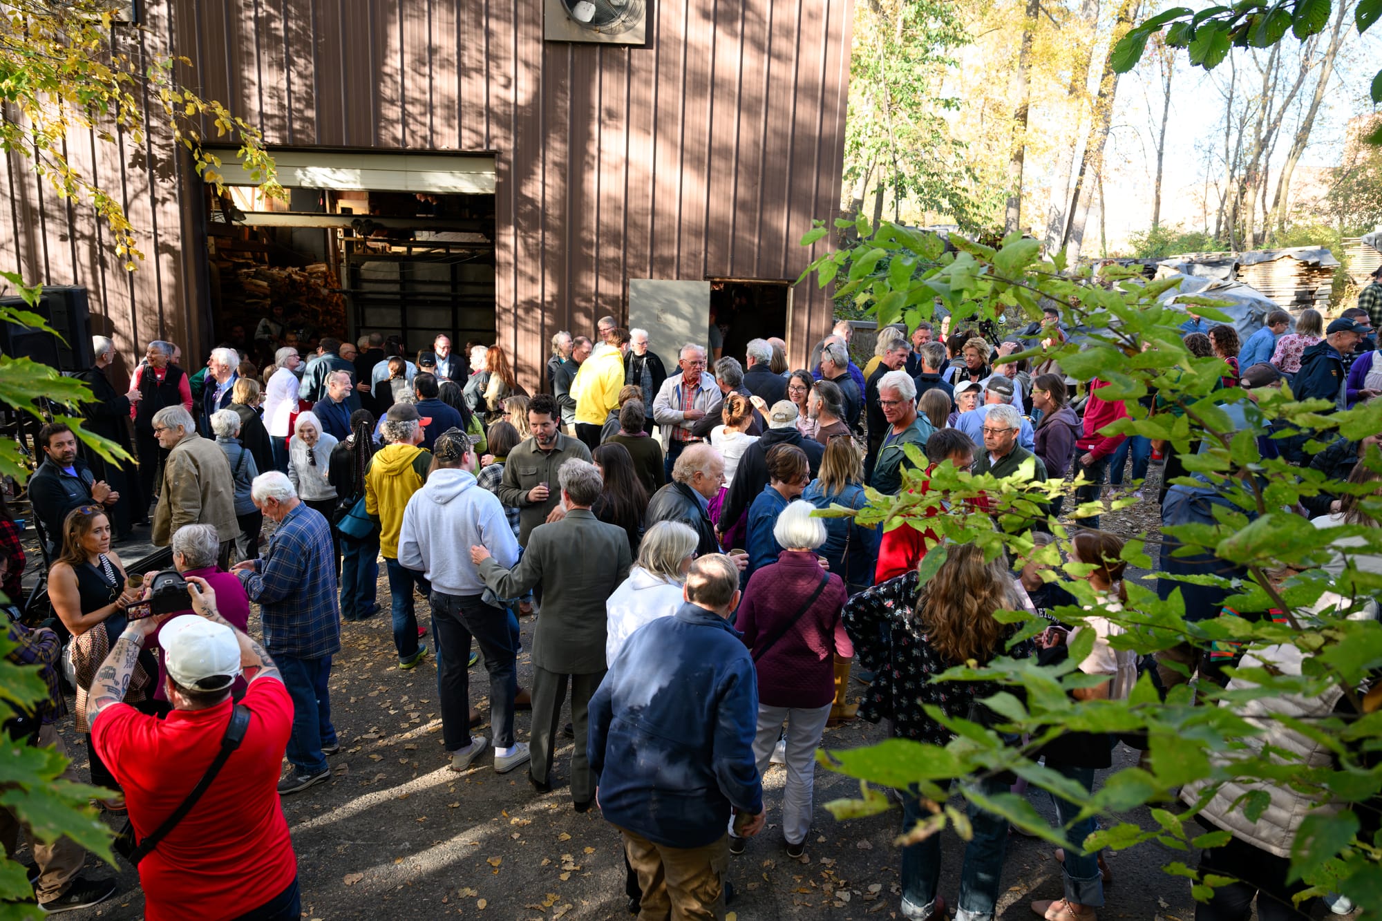
<instances>
[{"instance_id":1,"label":"dark jeans of the man in pale grey hoodie","mask_svg":"<svg viewBox=\"0 0 1382 921\"><path fill-rule=\"evenodd\" d=\"M495 747L514 744L514 694L518 693L517 646L503 608L485 604L480 595L431 593L433 646L437 650L437 694L446 751L470 744L470 640L489 672L489 725Z\"/></svg>"}]
</instances>

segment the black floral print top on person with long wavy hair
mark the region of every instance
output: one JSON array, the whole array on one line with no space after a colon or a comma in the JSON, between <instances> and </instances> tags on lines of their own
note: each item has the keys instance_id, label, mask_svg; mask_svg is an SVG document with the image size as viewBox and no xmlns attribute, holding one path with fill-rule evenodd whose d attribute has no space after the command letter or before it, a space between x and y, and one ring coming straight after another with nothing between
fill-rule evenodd
<instances>
[{"instance_id":1,"label":"black floral print top on person with long wavy hair","mask_svg":"<svg viewBox=\"0 0 1382 921\"><path fill-rule=\"evenodd\" d=\"M970 703L1001 690L994 682L931 682L933 675L962 662L947 661L912 621L916 604L916 573L909 571L860 592L844 606L844 629L873 685L860 708L869 722L893 720L901 738L944 745L952 733L926 715L923 705L940 707L948 716L969 718ZM1035 651L1025 640L1007 655L1025 658ZM998 654L1005 654L998 650Z\"/></svg>"}]
</instances>

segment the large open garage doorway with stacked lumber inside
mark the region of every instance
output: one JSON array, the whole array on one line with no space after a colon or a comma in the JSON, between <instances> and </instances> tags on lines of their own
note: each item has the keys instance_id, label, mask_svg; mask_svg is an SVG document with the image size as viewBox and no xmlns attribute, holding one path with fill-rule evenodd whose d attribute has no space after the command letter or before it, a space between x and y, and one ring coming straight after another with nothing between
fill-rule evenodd
<instances>
[{"instance_id":1,"label":"large open garage doorway with stacked lumber inside","mask_svg":"<svg viewBox=\"0 0 1382 921\"><path fill-rule=\"evenodd\" d=\"M438 333L457 350L495 342L493 158L286 151L275 159L286 201L264 198L232 167L224 195L207 187L217 343L269 361L272 347L256 346L254 331L276 306L283 340L304 350L325 336L375 332L399 336L409 354Z\"/></svg>"}]
</instances>

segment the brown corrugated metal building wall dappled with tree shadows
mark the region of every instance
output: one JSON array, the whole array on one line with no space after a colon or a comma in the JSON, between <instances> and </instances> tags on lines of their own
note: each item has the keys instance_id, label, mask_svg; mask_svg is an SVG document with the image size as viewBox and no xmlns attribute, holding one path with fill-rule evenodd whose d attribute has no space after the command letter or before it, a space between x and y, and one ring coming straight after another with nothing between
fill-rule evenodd
<instances>
[{"instance_id":1,"label":"brown corrugated metal building wall dappled with tree shadows","mask_svg":"<svg viewBox=\"0 0 1382 921\"><path fill-rule=\"evenodd\" d=\"M412 169L402 160L375 159L402 152L492 170L456 188L492 195L492 336L528 386L554 331L590 335L603 314L630 319L630 279L775 285L800 365L829 329L831 304L814 283L782 282L817 254L820 243L797 241L840 201L850 0L648 0L643 46L545 37L562 6L145 0L144 30L122 29L117 41L191 58L187 80L260 126L304 176L318 163L402 176ZM214 203L189 160L169 154L166 133L120 148L82 134L69 156L122 196L145 253L137 272L109 252L88 207L57 199L14 154L0 180L10 196L0 264L86 286L93 332L111 333L127 360L153 337L203 354L224 336ZM281 173L292 184L293 170ZM409 181L381 191L415 191ZM311 196L294 194L294 213L300 198ZM334 192L326 201L340 203ZM303 220L318 228L308 234L339 239L350 218ZM344 272L341 285L352 285ZM388 328L375 304L369 322L347 317L350 333Z\"/></svg>"}]
</instances>

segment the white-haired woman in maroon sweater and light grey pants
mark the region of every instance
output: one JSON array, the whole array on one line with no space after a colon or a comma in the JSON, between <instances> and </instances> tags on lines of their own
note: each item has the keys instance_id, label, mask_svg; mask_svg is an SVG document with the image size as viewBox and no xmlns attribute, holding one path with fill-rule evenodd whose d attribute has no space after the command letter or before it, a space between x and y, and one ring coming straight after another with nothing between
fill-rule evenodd
<instances>
[{"instance_id":1,"label":"white-haired woman in maroon sweater and light grey pants","mask_svg":"<svg viewBox=\"0 0 1382 921\"><path fill-rule=\"evenodd\" d=\"M814 505L797 499L778 516L773 537L786 549L749 578L737 622L759 676L753 756L760 774L786 722L782 835L792 857L804 853L811 827L815 748L835 701L835 657L854 655L840 622L849 596L840 577L815 556L825 543L825 521L813 512ZM744 838L730 835L730 853L744 853Z\"/></svg>"}]
</instances>

